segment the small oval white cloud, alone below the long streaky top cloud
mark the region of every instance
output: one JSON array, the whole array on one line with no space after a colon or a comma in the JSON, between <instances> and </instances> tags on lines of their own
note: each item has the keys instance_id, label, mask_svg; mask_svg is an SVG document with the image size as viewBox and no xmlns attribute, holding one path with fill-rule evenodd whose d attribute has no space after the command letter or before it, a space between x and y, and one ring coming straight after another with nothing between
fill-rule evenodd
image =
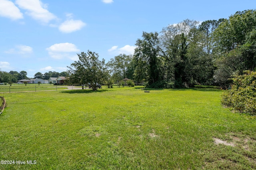
<instances>
[{"instance_id":1,"label":"small oval white cloud, alone below the long streaky top cloud","mask_svg":"<svg viewBox=\"0 0 256 170\"><path fill-rule=\"evenodd\" d=\"M78 31L84 27L86 23L81 20L73 20L69 19L64 21L60 26L59 30L63 33L72 33L74 31Z\"/></svg>"}]
</instances>

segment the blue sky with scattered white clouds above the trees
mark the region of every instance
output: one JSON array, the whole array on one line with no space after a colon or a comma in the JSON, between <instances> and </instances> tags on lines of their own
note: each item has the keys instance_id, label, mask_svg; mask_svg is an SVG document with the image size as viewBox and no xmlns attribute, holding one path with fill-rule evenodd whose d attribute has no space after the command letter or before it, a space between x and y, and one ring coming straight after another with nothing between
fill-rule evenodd
<instances>
[{"instance_id":1,"label":"blue sky with scattered white clouds above the trees","mask_svg":"<svg viewBox=\"0 0 256 170\"><path fill-rule=\"evenodd\" d=\"M169 24L228 18L254 0L0 0L2 71L67 70L87 50L106 62L132 54L142 32Z\"/></svg>"}]
</instances>

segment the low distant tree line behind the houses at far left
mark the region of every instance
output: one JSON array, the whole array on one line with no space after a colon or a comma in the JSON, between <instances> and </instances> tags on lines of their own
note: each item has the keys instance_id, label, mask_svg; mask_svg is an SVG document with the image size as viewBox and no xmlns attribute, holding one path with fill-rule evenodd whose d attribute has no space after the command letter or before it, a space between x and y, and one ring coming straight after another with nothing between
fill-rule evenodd
<instances>
[{"instance_id":1,"label":"low distant tree line behind the houses at far left","mask_svg":"<svg viewBox=\"0 0 256 170\"><path fill-rule=\"evenodd\" d=\"M49 71L49 72L45 72L44 74L42 74L41 72L37 72L36 74L34 74L33 78L28 78L28 73L26 71L10 71L10 72L5 72L5 71L0 71L0 82L12 82L15 83L18 80L22 80L22 79L36 79L36 78L41 78L44 80L48 80L50 77L58 77L58 76L67 76L67 72L56 72L56 71Z\"/></svg>"}]
</instances>

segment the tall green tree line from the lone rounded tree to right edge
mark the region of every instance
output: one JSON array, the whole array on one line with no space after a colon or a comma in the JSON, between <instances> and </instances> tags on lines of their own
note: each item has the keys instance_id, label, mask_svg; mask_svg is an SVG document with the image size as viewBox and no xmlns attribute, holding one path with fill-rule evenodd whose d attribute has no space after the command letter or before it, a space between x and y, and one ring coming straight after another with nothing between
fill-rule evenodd
<instances>
[{"instance_id":1,"label":"tall green tree line from the lone rounded tree to right edge","mask_svg":"<svg viewBox=\"0 0 256 170\"><path fill-rule=\"evenodd\" d=\"M228 86L232 76L256 69L256 11L202 23L184 20L159 33L143 32L135 45L134 55L120 54L106 64L97 53L78 54L79 61L68 67L71 82L129 78L151 88ZM96 72L101 79L92 80Z\"/></svg>"}]
</instances>

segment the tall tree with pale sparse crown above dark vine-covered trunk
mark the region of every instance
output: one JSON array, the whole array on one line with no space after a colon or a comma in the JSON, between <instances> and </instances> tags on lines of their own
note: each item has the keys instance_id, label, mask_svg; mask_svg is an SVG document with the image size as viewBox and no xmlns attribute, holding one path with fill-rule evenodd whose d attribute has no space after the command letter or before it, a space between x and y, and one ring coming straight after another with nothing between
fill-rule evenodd
<instances>
[{"instance_id":1,"label":"tall tree with pale sparse crown above dark vine-covered trunk","mask_svg":"<svg viewBox=\"0 0 256 170\"><path fill-rule=\"evenodd\" d=\"M198 21L184 20L175 25L169 25L163 28L161 34L161 49L163 67L168 74L164 77L168 81L174 81L174 86L180 88L184 84L191 84L191 72L189 71L188 63L188 48L191 41L194 41L194 33L191 30L196 30Z\"/></svg>"}]
</instances>

